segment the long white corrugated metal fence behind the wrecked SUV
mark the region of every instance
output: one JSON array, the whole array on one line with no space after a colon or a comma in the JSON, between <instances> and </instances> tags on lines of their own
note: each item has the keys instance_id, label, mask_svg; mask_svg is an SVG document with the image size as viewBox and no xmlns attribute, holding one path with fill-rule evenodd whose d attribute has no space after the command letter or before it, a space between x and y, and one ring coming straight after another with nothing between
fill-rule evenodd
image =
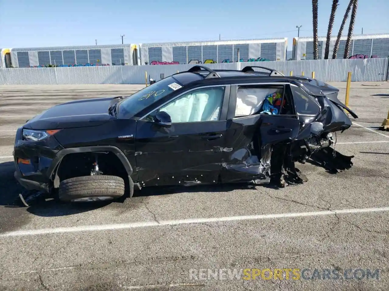
<instances>
[{"instance_id":1,"label":"long white corrugated metal fence behind the wrecked SUV","mask_svg":"<svg viewBox=\"0 0 389 291\"><path fill-rule=\"evenodd\" d=\"M263 66L277 69L286 76L310 76L322 81L346 81L352 72L352 81L384 81L387 79L389 58L329 59L302 61L265 61L202 64L211 69L243 69L245 66ZM44 84L144 84L150 78L160 79L177 71L186 71L195 64L94 66L60 68L0 68L1 85Z\"/></svg>"}]
</instances>

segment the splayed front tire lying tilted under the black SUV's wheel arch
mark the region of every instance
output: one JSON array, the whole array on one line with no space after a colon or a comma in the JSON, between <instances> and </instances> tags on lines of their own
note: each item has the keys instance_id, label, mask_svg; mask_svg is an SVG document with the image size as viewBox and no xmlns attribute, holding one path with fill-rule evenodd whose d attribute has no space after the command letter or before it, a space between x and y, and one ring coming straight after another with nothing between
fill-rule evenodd
<instances>
[{"instance_id":1,"label":"splayed front tire lying tilted under the black SUV's wheel arch","mask_svg":"<svg viewBox=\"0 0 389 291\"><path fill-rule=\"evenodd\" d=\"M65 202L102 201L124 195L124 180L109 175L81 176L63 180L58 197Z\"/></svg>"}]
</instances>

